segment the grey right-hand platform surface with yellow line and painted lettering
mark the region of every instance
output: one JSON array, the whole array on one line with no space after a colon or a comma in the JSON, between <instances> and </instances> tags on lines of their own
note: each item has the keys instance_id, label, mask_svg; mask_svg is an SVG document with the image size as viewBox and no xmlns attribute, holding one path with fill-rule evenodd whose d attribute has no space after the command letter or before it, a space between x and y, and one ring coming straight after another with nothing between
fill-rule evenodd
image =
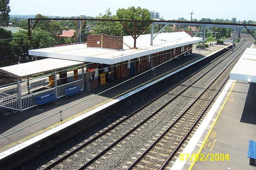
<instances>
[{"instance_id":1,"label":"grey right-hand platform surface with yellow line and painted lettering","mask_svg":"<svg viewBox=\"0 0 256 170\"><path fill-rule=\"evenodd\" d=\"M199 160L187 161L183 169L256 169L247 158L248 141L256 141L256 83L236 82L233 86L217 111L215 125L204 133L193 151L199 153Z\"/></svg>"}]
</instances>

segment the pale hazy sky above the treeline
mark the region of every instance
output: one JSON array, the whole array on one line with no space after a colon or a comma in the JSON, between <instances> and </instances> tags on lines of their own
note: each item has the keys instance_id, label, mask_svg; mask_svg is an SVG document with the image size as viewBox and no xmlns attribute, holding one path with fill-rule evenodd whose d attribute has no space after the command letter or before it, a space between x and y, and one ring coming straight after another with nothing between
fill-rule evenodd
<instances>
[{"instance_id":1,"label":"pale hazy sky above the treeline","mask_svg":"<svg viewBox=\"0 0 256 170\"><path fill-rule=\"evenodd\" d=\"M10 15L98 16L110 8L112 15L118 8L140 7L160 12L166 20L192 18L256 21L256 0L10 0Z\"/></svg>"}]
</instances>

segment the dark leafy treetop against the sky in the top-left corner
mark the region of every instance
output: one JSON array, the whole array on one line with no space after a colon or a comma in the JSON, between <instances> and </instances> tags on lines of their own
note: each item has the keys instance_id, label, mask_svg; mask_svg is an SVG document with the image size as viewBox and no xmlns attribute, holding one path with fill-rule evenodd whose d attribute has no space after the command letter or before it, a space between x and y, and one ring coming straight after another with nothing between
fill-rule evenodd
<instances>
[{"instance_id":1,"label":"dark leafy treetop against the sky in the top-left corner","mask_svg":"<svg viewBox=\"0 0 256 170\"><path fill-rule=\"evenodd\" d=\"M0 1L0 24L2 26L7 26L8 22L10 20L10 6L9 6L10 0L1 0Z\"/></svg>"}]
</instances>

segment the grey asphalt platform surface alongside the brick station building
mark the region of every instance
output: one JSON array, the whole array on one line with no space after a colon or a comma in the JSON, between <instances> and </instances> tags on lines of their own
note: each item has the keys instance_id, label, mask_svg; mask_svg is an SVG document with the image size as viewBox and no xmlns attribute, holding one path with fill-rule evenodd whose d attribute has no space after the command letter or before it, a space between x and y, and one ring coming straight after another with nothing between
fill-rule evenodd
<instances>
[{"instance_id":1,"label":"grey asphalt platform surface alongside the brick station building","mask_svg":"<svg viewBox=\"0 0 256 170\"><path fill-rule=\"evenodd\" d=\"M65 121L60 122L60 114L56 114L48 119L42 120L34 125L26 127L25 129L17 133L0 139L0 153L10 149L11 147L19 145L20 143L25 142L39 134L42 134L47 130L53 129L56 126L67 122L67 120L71 120L81 114L84 114L87 111L93 110L94 108L97 108L98 106L109 102L114 96L122 94L133 87L147 82L148 80L151 80L154 77L165 73L167 70L172 70L173 68L176 68L177 66L187 63L200 56L211 55L213 52L218 51L225 46L227 46L227 44L210 46L209 48L203 50L193 49L193 54L189 57L182 57L180 59L172 60L172 62L168 62L165 65L162 65L162 67L157 67L155 69L155 72L149 71L142 76L132 79L131 81L121 84L120 86L112 88L108 91L105 90L132 78L132 76L128 76L120 80L108 80L107 84L99 86L98 88L95 88L89 92L83 91L81 94L72 95L68 99L66 99L65 97L60 98L59 100L57 100L57 103L50 102L48 104L39 106L39 109L34 107L10 117L0 118L0 137L3 137L4 135L10 134L14 131L22 129L23 127L29 126L31 123L37 122L47 116L52 115L55 112L58 112L65 108L69 108L72 105L89 98L88 100L77 104L71 109L63 111L62 119ZM97 95L100 92L103 93Z\"/></svg>"}]
</instances>

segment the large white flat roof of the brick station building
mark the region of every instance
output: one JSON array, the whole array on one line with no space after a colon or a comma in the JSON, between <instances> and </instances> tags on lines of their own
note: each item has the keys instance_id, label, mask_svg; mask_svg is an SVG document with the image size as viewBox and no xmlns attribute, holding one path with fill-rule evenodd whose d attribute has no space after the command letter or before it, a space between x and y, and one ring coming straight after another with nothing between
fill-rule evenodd
<instances>
[{"instance_id":1,"label":"large white flat roof of the brick station building","mask_svg":"<svg viewBox=\"0 0 256 170\"><path fill-rule=\"evenodd\" d=\"M159 33L153 46L150 46L151 35L140 35L136 40L136 47L132 49L134 40L131 36L124 36L123 50L117 51L104 48L87 48L86 43L50 48L29 50L29 55L48 58L76 60L80 62L94 62L101 64L116 64L130 59L170 50L202 41L202 38L191 37L186 32Z\"/></svg>"}]
</instances>

